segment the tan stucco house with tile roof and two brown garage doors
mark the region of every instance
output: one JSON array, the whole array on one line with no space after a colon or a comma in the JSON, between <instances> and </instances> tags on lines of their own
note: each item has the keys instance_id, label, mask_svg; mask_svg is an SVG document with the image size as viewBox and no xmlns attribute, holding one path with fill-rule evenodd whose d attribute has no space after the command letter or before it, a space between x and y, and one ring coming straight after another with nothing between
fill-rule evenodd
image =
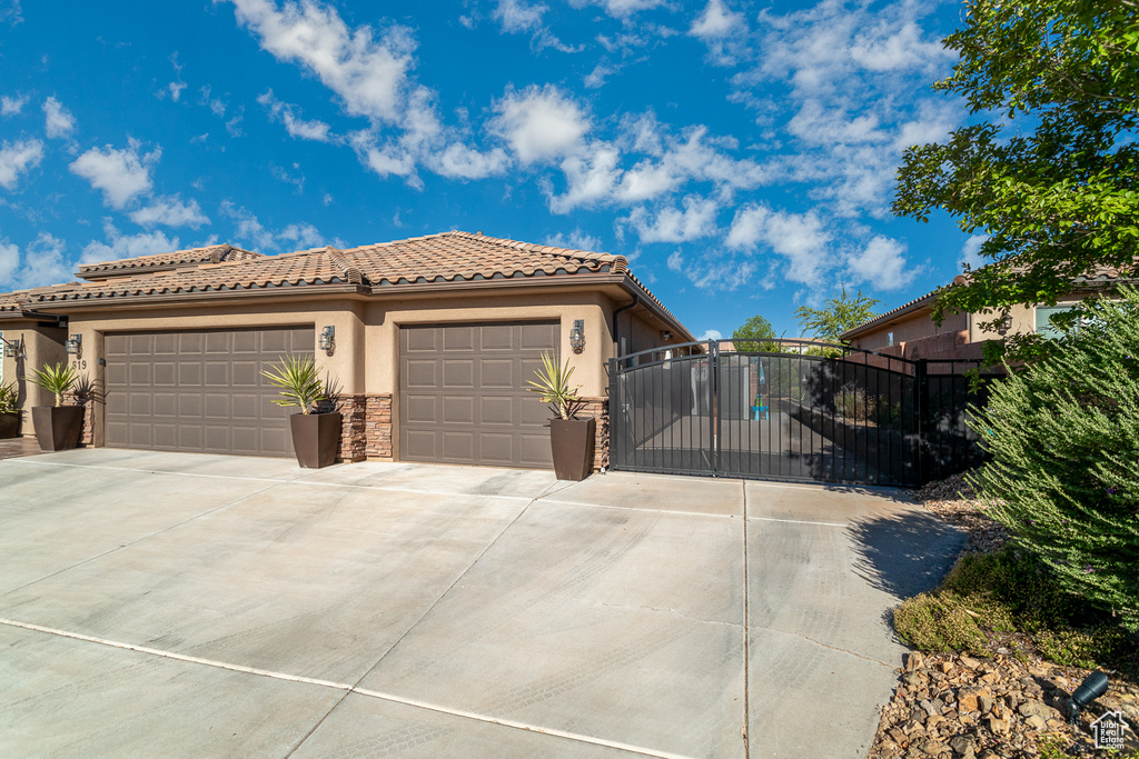
<instances>
[{"instance_id":1,"label":"tan stucco house with tile roof and two brown garage doors","mask_svg":"<svg viewBox=\"0 0 1139 759\"><path fill-rule=\"evenodd\" d=\"M270 403L279 396L261 370L298 352L339 390L345 461L546 468L549 412L526 382L554 350L601 422L604 465L606 362L694 339L623 256L481 233L276 256L218 245L77 277L0 295L0 331L26 354L2 370L25 412L51 403L26 381L32 369L68 361L93 380L83 439L95 446L292 455L296 410Z\"/></svg>"}]
</instances>

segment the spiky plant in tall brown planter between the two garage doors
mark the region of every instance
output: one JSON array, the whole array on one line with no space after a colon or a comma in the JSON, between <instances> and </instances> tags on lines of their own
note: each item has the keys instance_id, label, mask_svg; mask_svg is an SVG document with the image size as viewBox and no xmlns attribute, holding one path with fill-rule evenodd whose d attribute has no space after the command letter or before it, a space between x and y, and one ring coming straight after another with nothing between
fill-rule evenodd
<instances>
[{"instance_id":1,"label":"spiky plant in tall brown planter between the two garage doors","mask_svg":"<svg viewBox=\"0 0 1139 759\"><path fill-rule=\"evenodd\" d=\"M325 382L312 356L281 356L280 366L261 372L271 385L280 389L278 406L298 406L300 413L289 416L293 448L296 461L304 469L320 469L335 463L341 445L341 414L321 413L318 404L328 399Z\"/></svg>"}]
</instances>

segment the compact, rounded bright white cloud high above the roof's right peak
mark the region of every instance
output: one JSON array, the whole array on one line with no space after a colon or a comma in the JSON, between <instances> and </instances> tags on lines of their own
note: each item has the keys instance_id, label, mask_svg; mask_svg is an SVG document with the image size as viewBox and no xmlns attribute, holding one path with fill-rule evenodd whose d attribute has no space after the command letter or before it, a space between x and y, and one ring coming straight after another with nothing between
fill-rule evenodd
<instances>
[{"instance_id":1,"label":"compact, rounded bright white cloud high above the roof's right peak","mask_svg":"<svg viewBox=\"0 0 1139 759\"><path fill-rule=\"evenodd\" d=\"M524 164L551 160L580 147L590 130L585 112L556 86L508 91L497 104L493 129Z\"/></svg>"}]
</instances>

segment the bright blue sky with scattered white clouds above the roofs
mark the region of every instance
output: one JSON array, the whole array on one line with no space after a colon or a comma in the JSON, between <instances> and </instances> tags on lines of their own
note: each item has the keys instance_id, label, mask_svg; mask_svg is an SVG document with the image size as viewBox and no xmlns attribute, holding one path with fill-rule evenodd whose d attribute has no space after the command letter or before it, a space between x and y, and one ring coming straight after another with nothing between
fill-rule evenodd
<instances>
[{"instance_id":1,"label":"bright blue sky with scattered white clouds above the roofs","mask_svg":"<svg viewBox=\"0 0 1139 759\"><path fill-rule=\"evenodd\" d=\"M628 256L697 336L978 238L893 218L957 3L0 0L0 289L213 241L461 229Z\"/></svg>"}]
</instances>

